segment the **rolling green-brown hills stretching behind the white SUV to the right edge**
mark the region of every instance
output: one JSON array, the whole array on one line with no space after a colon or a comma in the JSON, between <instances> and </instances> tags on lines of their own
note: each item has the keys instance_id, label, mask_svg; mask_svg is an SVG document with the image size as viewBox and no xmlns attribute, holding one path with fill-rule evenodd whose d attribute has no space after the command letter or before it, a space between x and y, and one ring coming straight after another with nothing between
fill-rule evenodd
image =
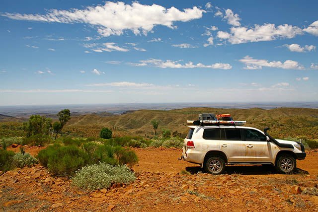
<instances>
[{"instance_id":1,"label":"rolling green-brown hills stretching behind the white SUV to the right edge","mask_svg":"<svg viewBox=\"0 0 318 212\"><path fill-rule=\"evenodd\" d=\"M160 129L187 133L186 120L198 119L200 113L230 113L235 120L246 120L246 126L264 129L270 127L270 134L276 138L307 136L318 139L318 109L276 108L265 110L222 109L222 108L183 108L176 110L137 110L122 115L99 116L88 114L72 117L66 129L84 136L98 136L102 127L113 130L115 135L140 135L152 137L151 121L159 120Z\"/></svg>"}]
</instances>

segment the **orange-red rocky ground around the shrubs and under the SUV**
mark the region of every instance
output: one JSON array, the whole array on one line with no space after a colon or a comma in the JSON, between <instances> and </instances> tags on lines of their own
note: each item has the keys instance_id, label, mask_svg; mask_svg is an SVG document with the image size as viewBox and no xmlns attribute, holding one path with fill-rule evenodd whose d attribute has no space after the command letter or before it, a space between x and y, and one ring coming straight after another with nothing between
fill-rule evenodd
<instances>
[{"instance_id":1,"label":"orange-red rocky ground around the shrubs and under the SUV","mask_svg":"<svg viewBox=\"0 0 318 212\"><path fill-rule=\"evenodd\" d=\"M18 151L18 148L10 148ZM28 147L36 154L39 147ZM297 173L270 167L227 166L227 173L202 173L198 165L177 160L179 149L135 149L140 162L130 185L84 192L71 180L52 177L36 165L0 176L1 211L318 211L318 151L297 161ZM187 170L188 172L185 172Z\"/></svg>"}]
</instances>

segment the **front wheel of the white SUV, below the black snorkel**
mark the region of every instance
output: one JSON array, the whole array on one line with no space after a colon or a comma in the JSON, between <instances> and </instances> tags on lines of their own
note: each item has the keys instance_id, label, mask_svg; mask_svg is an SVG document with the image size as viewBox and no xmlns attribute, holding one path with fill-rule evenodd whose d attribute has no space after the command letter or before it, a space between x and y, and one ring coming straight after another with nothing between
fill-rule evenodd
<instances>
[{"instance_id":1,"label":"front wheel of the white SUV, below the black snorkel","mask_svg":"<svg viewBox=\"0 0 318 212\"><path fill-rule=\"evenodd\" d=\"M275 169L282 174L293 173L296 169L296 159L290 154L279 155L276 160Z\"/></svg>"}]
</instances>

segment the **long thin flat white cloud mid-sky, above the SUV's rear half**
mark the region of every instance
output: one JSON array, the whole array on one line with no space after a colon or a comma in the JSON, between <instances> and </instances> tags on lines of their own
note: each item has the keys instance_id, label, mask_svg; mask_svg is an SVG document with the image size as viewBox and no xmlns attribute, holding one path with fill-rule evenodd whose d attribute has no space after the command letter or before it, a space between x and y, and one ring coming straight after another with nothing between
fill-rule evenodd
<instances>
[{"instance_id":1,"label":"long thin flat white cloud mid-sky, above the SUV's rear half","mask_svg":"<svg viewBox=\"0 0 318 212\"><path fill-rule=\"evenodd\" d=\"M140 61L139 64L130 63L132 66L155 66L162 69L171 68L171 69L193 69L193 68L210 68L210 69L223 69L223 70L230 70L232 66L230 64L223 64L223 63L215 63L212 65L204 65L201 63L193 64L192 62L188 62L184 65L178 63L177 61L171 60L158 60L158 59L149 59Z\"/></svg>"}]
</instances>

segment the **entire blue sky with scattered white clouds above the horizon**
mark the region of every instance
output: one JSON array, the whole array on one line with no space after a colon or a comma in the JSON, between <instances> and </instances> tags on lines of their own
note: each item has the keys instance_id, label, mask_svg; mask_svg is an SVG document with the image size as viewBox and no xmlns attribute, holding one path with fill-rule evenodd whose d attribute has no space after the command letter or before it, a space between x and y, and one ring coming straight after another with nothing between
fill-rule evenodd
<instances>
[{"instance_id":1,"label":"entire blue sky with scattered white clouds above the horizon","mask_svg":"<svg viewBox=\"0 0 318 212\"><path fill-rule=\"evenodd\" d=\"M318 1L0 1L0 105L318 101Z\"/></svg>"}]
</instances>

